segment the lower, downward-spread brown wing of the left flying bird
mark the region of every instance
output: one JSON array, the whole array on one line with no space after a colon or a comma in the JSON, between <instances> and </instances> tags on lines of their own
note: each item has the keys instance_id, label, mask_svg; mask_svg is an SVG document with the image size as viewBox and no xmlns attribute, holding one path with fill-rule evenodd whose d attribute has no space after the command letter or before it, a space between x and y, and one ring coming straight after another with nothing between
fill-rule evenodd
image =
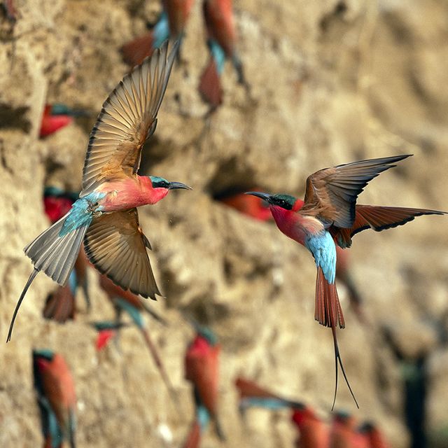
<instances>
[{"instance_id":1,"label":"lower, downward-spread brown wing of the left flying bird","mask_svg":"<svg viewBox=\"0 0 448 448\"><path fill-rule=\"evenodd\" d=\"M85 253L99 272L123 289L143 297L161 295L146 248L149 241L139 226L137 209L94 218L84 238Z\"/></svg>"}]
</instances>

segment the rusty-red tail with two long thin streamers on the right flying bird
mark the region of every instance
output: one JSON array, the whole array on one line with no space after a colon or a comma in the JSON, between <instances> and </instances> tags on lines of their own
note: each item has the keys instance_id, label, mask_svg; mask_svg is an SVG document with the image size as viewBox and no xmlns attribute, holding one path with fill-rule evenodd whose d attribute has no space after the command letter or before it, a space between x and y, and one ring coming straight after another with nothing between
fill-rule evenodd
<instances>
[{"instance_id":1,"label":"rusty-red tail with two long thin streamers on the right flying bird","mask_svg":"<svg viewBox=\"0 0 448 448\"><path fill-rule=\"evenodd\" d=\"M316 321L321 323L321 325L325 325L325 327L330 327L332 336L333 336L333 344L335 346L335 397L333 398L333 404L331 410L335 407L336 402L336 394L337 394L337 364L342 370L342 375L345 379L346 385L349 387L349 391L351 396L353 397L354 402L356 403L356 407L358 407L358 402L356 401L355 395L351 390L351 386L349 383L349 379L346 376L344 365L342 363L341 354L339 352L339 346L337 344L337 335L336 335L336 327L339 324L339 328L344 328L344 316L342 314L341 304L339 303L339 297L337 296L337 289L335 283L328 283L327 279L323 275L322 268L317 268L317 278L316 278L316 311L314 314Z\"/></svg>"}]
</instances>

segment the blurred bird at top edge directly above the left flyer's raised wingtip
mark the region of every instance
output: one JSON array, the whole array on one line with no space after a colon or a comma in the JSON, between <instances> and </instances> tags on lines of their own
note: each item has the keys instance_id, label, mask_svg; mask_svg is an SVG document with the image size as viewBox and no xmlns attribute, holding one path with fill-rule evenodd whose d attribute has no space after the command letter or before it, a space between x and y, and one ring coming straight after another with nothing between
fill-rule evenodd
<instances>
[{"instance_id":1,"label":"blurred bird at top edge directly above the left flyer's raised wingtip","mask_svg":"<svg viewBox=\"0 0 448 448\"><path fill-rule=\"evenodd\" d=\"M162 0L163 10L153 29L121 48L126 64L141 64L145 57L151 56L155 48L159 48L168 38L182 41L194 1Z\"/></svg>"}]
</instances>

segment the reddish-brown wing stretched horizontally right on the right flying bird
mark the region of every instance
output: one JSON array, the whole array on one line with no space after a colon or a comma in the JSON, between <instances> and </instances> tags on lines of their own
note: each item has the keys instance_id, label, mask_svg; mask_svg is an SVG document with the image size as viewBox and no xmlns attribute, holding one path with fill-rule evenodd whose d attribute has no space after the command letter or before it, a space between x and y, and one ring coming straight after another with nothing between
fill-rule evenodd
<instances>
[{"instance_id":1,"label":"reddish-brown wing stretched horizontally right on the right flying bird","mask_svg":"<svg viewBox=\"0 0 448 448\"><path fill-rule=\"evenodd\" d=\"M330 232L333 237L336 237L337 244L346 248L351 246L351 237L365 229L381 232L381 230L391 229L412 221L416 216L444 214L446 212L438 210L357 205L353 226L349 229L330 228Z\"/></svg>"}]
</instances>

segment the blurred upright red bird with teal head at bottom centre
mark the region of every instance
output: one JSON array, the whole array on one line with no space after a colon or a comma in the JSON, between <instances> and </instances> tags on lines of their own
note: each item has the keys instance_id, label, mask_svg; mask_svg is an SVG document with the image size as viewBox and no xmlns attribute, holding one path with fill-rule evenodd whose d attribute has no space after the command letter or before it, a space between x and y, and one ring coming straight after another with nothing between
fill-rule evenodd
<instances>
[{"instance_id":1,"label":"blurred upright red bird with teal head at bottom centre","mask_svg":"<svg viewBox=\"0 0 448 448\"><path fill-rule=\"evenodd\" d=\"M193 323L196 336L185 356L185 377L193 383L196 408L203 406L215 422L216 435L224 440L218 420L219 353L221 345L210 328Z\"/></svg>"}]
</instances>

